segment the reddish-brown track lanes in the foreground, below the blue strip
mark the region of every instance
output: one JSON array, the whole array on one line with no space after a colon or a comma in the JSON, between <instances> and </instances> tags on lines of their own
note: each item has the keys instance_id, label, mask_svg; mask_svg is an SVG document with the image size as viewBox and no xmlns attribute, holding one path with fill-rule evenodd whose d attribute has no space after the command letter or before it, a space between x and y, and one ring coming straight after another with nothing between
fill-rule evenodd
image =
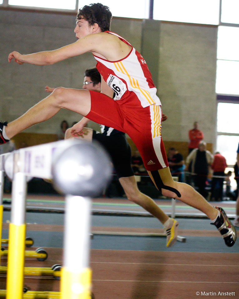
<instances>
[{"instance_id":1,"label":"reddish-brown track lanes in the foreground, below the blue strip","mask_svg":"<svg viewBox=\"0 0 239 299\"><path fill-rule=\"evenodd\" d=\"M62 249L46 251L46 261L27 259L25 266L62 263ZM2 265L6 265L6 258L2 258ZM193 299L204 291L235 292L235 296L223 298L238 298L239 294L238 253L92 249L91 268L95 299ZM0 278L3 289L5 281ZM26 277L24 284L32 291L59 291L59 281L54 279Z\"/></svg>"}]
</instances>

